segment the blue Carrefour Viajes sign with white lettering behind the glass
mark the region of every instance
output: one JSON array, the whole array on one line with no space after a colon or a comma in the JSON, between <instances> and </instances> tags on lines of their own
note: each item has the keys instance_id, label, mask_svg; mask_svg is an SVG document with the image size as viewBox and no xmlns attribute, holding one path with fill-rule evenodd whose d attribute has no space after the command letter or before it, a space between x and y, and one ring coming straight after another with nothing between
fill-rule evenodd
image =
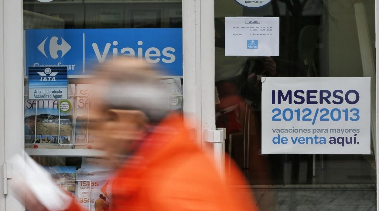
<instances>
[{"instance_id":1,"label":"blue Carrefour Viajes sign with white lettering behind the glass","mask_svg":"<svg viewBox=\"0 0 379 211\"><path fill-rule=\"evenodd\" d=\"M91 75L93 65L129 55L183 75L182 29L26 29L26 66L67 66Z\"/></svg>"}]
</instances>

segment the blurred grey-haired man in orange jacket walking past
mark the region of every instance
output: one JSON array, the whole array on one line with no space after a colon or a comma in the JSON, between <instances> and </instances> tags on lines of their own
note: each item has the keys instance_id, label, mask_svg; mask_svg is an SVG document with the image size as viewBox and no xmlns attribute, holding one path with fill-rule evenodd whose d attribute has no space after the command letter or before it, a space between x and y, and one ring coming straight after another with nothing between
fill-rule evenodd
<instances>
[{"instance_id":1,"label":"blurred grey-haired man in orange jacket walking past","mask_svg":"<svg viewBox=\"0 0 379 211\"><path fill-rule=\"evenodd\" d=\"M257 210L248 192L225 185L189 140L182 117L168 110L156 74L151 64L123 57L101 65L91 81L90 132L117 168L110 210ZM233 165L232 171L228 183L244 184ZM23 202L28 211L44 210L35 198ZM86 208L72 200L64 210Z\"/></svg>"}]
</instances>

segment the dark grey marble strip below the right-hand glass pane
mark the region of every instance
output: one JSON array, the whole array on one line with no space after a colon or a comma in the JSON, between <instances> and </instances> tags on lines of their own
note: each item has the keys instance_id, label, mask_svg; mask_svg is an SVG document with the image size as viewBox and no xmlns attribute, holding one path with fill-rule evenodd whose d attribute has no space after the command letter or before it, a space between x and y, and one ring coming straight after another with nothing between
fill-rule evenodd
<instances>
[{"instance_id":1,"label":"dark grey marble strip below the right-hand glass pane","mask_svg":"<svg viewBox=\"0 0 379 211\"><path fill-rule=\"evenodd\" d=\"M255 201L262 211L374 211L376 189L257 189Z\"/></svg>"}]
</instances>

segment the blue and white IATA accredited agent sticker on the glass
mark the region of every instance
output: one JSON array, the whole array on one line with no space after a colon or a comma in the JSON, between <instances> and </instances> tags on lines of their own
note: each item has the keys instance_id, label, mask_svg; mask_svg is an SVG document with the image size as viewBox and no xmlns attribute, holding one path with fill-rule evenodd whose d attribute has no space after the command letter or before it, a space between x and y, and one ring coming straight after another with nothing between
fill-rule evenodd
<instances>
[{"instance_id":1,"label":"blue and white IATA accredited agent sticker on the glass","mask_svg":"<svg viewBox=\"0 0 379 211\"><path fill-rule=\"evenodd\" d=\"M67 67L28 68L29 100L67 99Z\"/></svg>"}]
</instances>

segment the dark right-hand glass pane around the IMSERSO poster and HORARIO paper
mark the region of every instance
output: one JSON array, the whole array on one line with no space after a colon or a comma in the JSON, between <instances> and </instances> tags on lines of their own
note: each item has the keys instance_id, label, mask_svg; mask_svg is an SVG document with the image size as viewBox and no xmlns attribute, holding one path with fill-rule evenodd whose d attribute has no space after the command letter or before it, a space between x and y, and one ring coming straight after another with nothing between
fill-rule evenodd
<instances>
[{"instance_id":1,"label":"dark right-hand glass pane around the IMSERSO poster and HORARIO paper","mask_svg":"<svg viewBox=\"0 0 379 211\"><path fill-rule=\"evenodd\" d=\"M261 209L374 210L375 2L238 2L215 1L216 127L227 128L226 150ZM279 56L226 55L226 17L279 17ZM362 76L371 77L371 153L262 154L262 77Z\"/></svg>"}]
</instances>

